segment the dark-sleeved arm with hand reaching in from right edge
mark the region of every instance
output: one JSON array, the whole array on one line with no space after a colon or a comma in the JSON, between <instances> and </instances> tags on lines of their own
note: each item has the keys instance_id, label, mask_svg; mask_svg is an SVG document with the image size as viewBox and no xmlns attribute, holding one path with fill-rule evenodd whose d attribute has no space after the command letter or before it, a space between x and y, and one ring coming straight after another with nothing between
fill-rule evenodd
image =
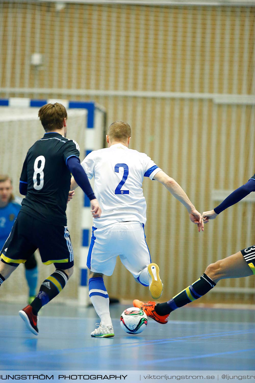
<instances>
[{"instance_id":1,"label":"dark-sleeved arm with hand reaching in from right edge","mask_svg":"<svg viewBox=\"0 0 255 383\"><path fill-rule=\"evenodd\" d=\"M210 211L204 211L202 214L203 221L207 223L209 219L215 219L219 213L229 208L229 206L235 205L252 191L255 191L255 179L253 178L229 194L216 208Z\"/></svg>"}]
</instances>

